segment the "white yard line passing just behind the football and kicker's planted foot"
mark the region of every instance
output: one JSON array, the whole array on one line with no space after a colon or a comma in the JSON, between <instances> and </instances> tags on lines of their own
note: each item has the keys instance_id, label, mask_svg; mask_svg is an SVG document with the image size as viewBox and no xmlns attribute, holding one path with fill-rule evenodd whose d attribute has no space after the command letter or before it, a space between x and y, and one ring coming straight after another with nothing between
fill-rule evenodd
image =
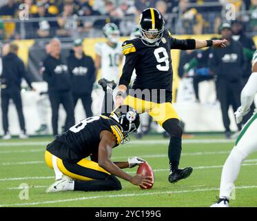
<instances>
[{"instance_id":1,"label":"white yard line passing just behind the football and kicker's planted foot","mask_svg":"<svg viewBox=\"0 0 257 221\"><path fill-rule=\"evenodd\" d=\"M254 164L242 164L242 166L256 166L257 163ZM193 166L194 170L197 169L216 169L216 168L222 168L223 165L218 166ZM154 169L154 172L161 172L161 171L169 171L169 169ZM136 173L136 171L128 171L127 173ZM12 180L47 180L47 179L53 179L54 176L51 177L6 177L1 178L0 181L12 181Z\"/></svg>"}]
</instances>

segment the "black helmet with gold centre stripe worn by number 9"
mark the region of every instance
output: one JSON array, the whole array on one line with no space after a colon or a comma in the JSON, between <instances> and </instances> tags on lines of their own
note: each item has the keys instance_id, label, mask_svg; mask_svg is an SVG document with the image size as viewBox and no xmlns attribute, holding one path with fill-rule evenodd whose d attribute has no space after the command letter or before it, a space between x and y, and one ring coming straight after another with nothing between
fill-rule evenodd
<instances>
[{"instance_id":1,"label":"black helmet with gold centre stripe worn by number 9","mask_svg":"<svg viewBox=\"0 0 257 221\"><path fill-rule=\"evenodd\" d=\"M164 23L163 15L155 8L143 10L139 18L143 43L147 46L158 45L163 37Z\"/></svg>"}]
</instances>

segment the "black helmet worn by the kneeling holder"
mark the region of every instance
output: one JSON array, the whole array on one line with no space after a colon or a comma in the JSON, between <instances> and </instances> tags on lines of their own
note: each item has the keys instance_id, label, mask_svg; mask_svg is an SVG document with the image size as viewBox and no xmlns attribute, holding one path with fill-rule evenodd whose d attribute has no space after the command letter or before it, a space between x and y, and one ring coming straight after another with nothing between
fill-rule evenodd
<instances>
[{"instance_id":1,"label":"black helmet worn by the kneeling holder","mask_svg":"<svg viewBox=\"0 0 257 221\"><path fill-rule=\"evenodd\" d=\"M130 133L137 133L137 129L140 124L140 117L136 110L128 105L121 105L114 109L110 114L110 117L121 125L123 140L121 144L125 144L130 141Z\"/></svg>"}]
</instances>

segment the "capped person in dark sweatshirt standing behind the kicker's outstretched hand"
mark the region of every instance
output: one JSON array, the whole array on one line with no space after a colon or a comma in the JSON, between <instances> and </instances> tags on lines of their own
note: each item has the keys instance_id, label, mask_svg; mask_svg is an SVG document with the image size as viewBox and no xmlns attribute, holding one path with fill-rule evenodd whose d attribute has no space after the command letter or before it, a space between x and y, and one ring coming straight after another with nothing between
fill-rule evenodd
<instances>
[{"instance_id":1,"label":"capped person in dark sweatshirt standing behind the kicker's outstretched hand","mask_svg":"<svg viewBox=\"0 0 257 221\"><path fill-rule=\"evenodd\" d=\"M217 96L223 115L225 135L231 137L229 106L234 112L240 106L240 93L243 89L243 72L245 56L243 47L232 39L232 29L229 23L223 23L220 27L222 39L227 39L227 47L223 50L212 48L209 53L209 68L217 77ZM241 125L238 125L240 131Z\"/></svg>"}]
</instances>

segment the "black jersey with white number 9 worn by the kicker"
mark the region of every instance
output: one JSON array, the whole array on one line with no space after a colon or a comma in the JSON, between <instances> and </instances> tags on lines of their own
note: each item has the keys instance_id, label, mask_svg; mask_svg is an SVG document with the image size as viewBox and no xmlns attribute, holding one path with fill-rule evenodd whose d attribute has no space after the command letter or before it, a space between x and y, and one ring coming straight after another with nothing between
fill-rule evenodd
<instances>
[{"instance_id":1,"label":"black jersey with white number 9 worn by the kicker","mask_svg":"<svg viewBox=\"0 0 257 221\"><path fill-rule=\"evenodd\" d=\"M166 101L172 100L172 57L171 49L190 50L196 48L194 39L180 40L165 30L158 46L147 46L143 39L136 38L123 43L125 64L119 84L128 86L133 70L136 79L133 89L165 89Z\"/></svg>"}]
</instances>

